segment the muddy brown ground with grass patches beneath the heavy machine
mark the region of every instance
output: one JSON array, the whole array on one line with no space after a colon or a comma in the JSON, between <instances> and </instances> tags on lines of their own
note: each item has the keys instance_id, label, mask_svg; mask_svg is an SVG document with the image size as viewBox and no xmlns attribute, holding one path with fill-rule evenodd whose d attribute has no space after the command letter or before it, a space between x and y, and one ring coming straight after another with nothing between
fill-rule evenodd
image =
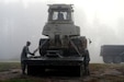
<instances>
[{"instance_id":1,"label":"muddy brown ground with grass patches beneath the heavy machine","mask_svg":"<svg viewBox=\"0 0 124 82\"><path fill-rule=\"evenodd\" d=\"M30 80L31 82L124 82L124 63L122 65L90 65L91 74L81 78L47 77L36 78L22 75L20 69L0 72L0 81Z\"/></svg>"}]
</instances>

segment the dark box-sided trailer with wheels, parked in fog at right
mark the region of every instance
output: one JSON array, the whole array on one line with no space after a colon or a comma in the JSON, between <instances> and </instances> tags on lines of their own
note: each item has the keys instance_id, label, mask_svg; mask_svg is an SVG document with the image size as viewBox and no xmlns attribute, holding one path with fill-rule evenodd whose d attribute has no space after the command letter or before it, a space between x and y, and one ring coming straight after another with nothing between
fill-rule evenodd
<instances>
[{"instance_id":1,"label":"dark box-sided trailer with wheels, parked in fog at right","mask_svg":"<svg viewBox=\"0 0 124 82\"><path fill-rule=\"evenodd\" d=\"M103 45L100 56L103 57L105 63L124 62L124 45Z\"/></svg>"}]
</instances>

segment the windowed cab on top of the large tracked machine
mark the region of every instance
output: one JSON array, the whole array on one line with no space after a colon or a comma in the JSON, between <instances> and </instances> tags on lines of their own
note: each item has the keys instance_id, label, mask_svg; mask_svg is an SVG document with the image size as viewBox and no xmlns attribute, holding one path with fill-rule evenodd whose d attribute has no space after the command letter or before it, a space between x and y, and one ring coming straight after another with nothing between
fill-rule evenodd
<instances>
[{"instance_id":1,"label":"windowed cab on top of the large tracked machine","mask_svg":"<svg viewBox=\"0 0 124 82\"><path fill-rule=\"evenodd\" d=\"M71 4L49 4L48 22L74 22L72 21L72 7Z\"/></svg>"}]
</instances>

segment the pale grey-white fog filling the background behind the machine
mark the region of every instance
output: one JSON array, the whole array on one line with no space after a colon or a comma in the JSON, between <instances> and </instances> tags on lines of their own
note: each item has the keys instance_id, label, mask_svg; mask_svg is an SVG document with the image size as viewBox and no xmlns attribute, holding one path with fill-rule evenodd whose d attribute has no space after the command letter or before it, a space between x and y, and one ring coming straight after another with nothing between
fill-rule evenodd
<instances>
[{"instance_id":1,"label":"pale grey-white fog filling the background behind the machine","mask_svg":"<svg viewBox=\"0 0 124 82\"><path fill-rule=\"evenodd\" d=\"M103 62L101 45L124 45L123 0L0 0L0 61L20 59L26 40L32 43L31 51L37 48L47 4L53 3L74 4L75 24L81 36L92 40L88 46L91 62Z\"/></svg>"}]
</instances>

